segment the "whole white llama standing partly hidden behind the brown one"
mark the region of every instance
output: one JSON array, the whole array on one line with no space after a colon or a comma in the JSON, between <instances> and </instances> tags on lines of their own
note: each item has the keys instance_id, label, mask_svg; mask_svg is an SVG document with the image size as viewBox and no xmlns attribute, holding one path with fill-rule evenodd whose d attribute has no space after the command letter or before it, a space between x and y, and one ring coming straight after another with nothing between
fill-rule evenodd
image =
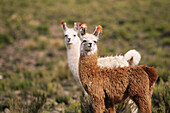
<instances>
[{"instance_id":1,"label":"whole white llama standing partly hidden behind the brown one","mask_svg":"<svg viewBox=\"0 0 170 113\"><path fill-rule=\"evenodd\" d=\"M68 28L65 22L61 22L61 27L65 35L65 45L67 48L67 57L69 68L75 78L75 80L81 85L85 96L85 92L78 75L78 62L80 56L80 43L81 40L78 37L79 23L74 23L74 28ZM129 65L137 65L141 59L139 52L136 50L128 51L124 56L109 56L109 57L100 57L98 58L98 65L102 68L104 67L124 67ZM129 101L129 105L132 104L132 101ZM132 104L134 105L134 104ZM134 105L135 106L135 105ZM131 109L133 113L137 112L137 109Z\"/></svg>"}]
</instances>

